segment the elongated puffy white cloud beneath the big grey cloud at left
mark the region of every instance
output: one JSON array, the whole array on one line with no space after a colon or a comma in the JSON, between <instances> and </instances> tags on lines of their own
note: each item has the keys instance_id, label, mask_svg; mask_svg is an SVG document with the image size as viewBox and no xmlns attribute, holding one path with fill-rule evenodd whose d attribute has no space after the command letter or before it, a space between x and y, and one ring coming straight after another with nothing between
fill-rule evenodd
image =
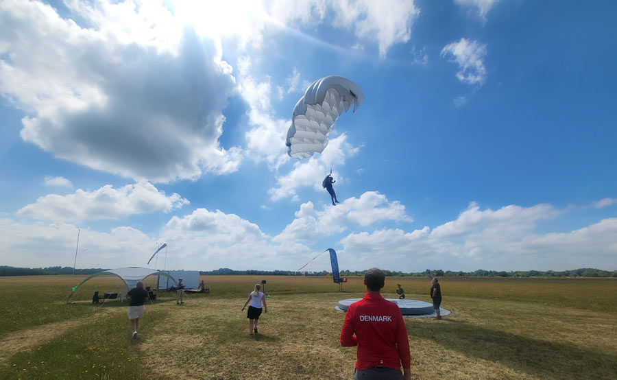
<instances>
[{"instance_id":1,"label":"elongated puffy white cloud beneath the big grey cloud at left","mask_svg":"<svg viewBox=\"0 0 617 380\"><path fill-rule=\"evenodd\" d=\"M177 193L165 195L149 182L114 189L106 185L96 191L77 189L69 195L49 194L17 211L17 215L38 220L77 222L123 219L134 214L180 209L189 201Z\"/></svg>"}]
</instances>

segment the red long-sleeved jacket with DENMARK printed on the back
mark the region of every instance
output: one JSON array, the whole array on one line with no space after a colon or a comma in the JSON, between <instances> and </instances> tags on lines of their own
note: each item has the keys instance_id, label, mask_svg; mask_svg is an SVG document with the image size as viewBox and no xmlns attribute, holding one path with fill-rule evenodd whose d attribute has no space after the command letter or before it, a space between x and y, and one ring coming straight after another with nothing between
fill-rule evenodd
<instances>
[{"instance_id":1,"label":"red long-sleeved jacket with DENMARK printed on the back","mask_svg":"<svg viewBox=\"0 0 617 380\"><path fill-rule=\"evenodd\" d=\"M400 370L401 366L411 366L407 327L400 309L378 293L367 293L347 309L341 345L358 346L357 370L373 366Z\"/></svg>"}]
</instances>

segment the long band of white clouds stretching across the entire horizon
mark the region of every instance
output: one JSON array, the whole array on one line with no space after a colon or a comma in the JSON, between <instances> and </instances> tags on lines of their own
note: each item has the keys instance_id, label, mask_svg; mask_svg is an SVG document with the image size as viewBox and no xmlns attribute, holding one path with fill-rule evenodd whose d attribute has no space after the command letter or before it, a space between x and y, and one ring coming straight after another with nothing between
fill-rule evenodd
<instances>
[{"instance_id":1,"label":"long band of white clouds stretching across the entire horizon","mask_svg":"<svg viewBox=\"0 0 617 380\"><path fill-rule=\"evenodd\" d=\"M196 209L189 215L171 217L156 235L131 226L109 232L82 228L77 268L145 265L158 241L167 242L168 269L295 270L327 244L337 249L340 268L352 270L374 266L407 272L426 268L616 270L617 218L563 233L537 233L538 222L569 210L546 204L482 210L472 203L459 217L433 230L424 226L407 231L380 226L410 222L404 206L389 202L385 195L367 192L321 211L311 202L302 204L293 222L271 238L238 215ZM345 231L349 233L341 241L332 240ZM35 268L73 265L76 238L77 227L71 224L2 217L0 261ZM317 252L302 241L319 246ZM316 260L310 269L322 270L328 265L327 258Z\"/></svg>"}]
</instances>

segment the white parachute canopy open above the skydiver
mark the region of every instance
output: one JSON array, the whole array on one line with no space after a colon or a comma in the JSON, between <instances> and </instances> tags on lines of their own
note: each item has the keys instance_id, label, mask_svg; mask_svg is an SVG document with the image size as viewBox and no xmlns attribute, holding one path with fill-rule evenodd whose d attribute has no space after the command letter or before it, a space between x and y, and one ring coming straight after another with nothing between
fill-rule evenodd
<instances>
[{"instance_id":1,"label":"white parachute canopy open above the skydiver","mask_svg":"<svg viewBox=\"0 0 617 380\"><path fill-rule=\"evenodd\" d=\"M321 153L338 117L352 105L355 112L363 100L358 85L346 78L330 75L313 82L293 107L287 154L300 159Z\"/></svg>"}]
</instances>

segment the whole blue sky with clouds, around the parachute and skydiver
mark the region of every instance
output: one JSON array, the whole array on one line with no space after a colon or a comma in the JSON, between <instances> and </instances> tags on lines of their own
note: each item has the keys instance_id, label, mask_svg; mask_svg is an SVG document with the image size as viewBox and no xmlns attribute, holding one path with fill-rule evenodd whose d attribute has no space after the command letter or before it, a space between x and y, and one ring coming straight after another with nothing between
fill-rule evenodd
<instances>
[{"instance_id":1,"label":"whole blue sky with clouds, around the parachute and skydiver","mask_svg":"<svg viewBox=\"0 0 617 380\"><path fill-rule=\"evenodd\" d=\"M0 265L617 270L616 11L0 0ZM291 158L327 75L364 101Z\"/></svg>"}]
</instances>

